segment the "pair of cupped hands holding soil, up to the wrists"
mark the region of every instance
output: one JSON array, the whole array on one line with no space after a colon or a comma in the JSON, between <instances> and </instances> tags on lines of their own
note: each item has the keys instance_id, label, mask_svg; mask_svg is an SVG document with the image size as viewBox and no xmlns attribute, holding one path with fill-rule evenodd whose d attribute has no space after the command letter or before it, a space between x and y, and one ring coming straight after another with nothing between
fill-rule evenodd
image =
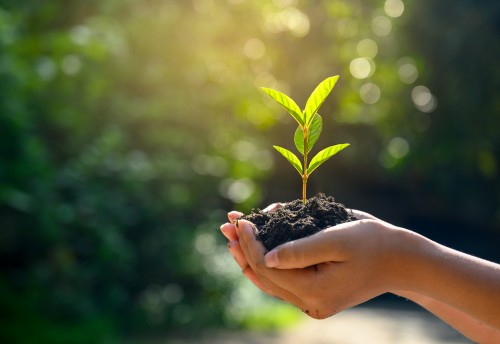
<instances>
[{"instance_id":1,"label":"pair of cupped hands holding soil, up to the wrists","mask_svg":"<svg viewBox=\"0 0 500 344\"><path fill-rule=\"evenodd\" d=\"M274 204L265 211L274 211ZM269 252L255 225L228 214L221 226L242 273L263 292L289 302L315 319L339 313L397 288L394 232L387 222L357 210L358 219L282 244Z\"/></svg>"}]
</instances>

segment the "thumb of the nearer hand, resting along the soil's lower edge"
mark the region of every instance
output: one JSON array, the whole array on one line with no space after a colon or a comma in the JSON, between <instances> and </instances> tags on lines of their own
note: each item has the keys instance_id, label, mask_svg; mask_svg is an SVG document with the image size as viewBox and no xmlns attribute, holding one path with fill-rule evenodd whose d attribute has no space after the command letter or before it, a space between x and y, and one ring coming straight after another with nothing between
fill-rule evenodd
<instances>
[{"instance_id":1,"label":"thumb of the nearer hand, resting along the soil's lower edge","mask_svg":"<svg viewBox=\"0 0 500 344\"><path fill-rule=\"evenodd\" d=\"M268 268L295 269L319 263L342 261L342 255L336 250L335 231L320 231L309 237L282 244L264 257Z\"/></svg>"}]
</instances>

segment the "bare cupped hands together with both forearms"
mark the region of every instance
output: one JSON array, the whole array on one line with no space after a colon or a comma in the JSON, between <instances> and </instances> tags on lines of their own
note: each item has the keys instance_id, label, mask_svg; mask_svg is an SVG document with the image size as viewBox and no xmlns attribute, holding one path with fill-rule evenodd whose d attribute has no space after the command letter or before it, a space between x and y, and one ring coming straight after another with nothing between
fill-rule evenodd
<instances>
[{"instance_id":1,"label":"bare cupped hands together with both forearms","mask_svg":"<svg viewBox=\"0 0 500 344\"><path fill-rule=\"evenodd\" d=\"M272 210L272 208L271 208ZM266 254L254 226L221 227L243 274L264 292L322 319L385 292L413 300L479 343L500 342L500 266L369 214ZM333 287L332 287L333 286Z\"/></svg>"}]
</instances>

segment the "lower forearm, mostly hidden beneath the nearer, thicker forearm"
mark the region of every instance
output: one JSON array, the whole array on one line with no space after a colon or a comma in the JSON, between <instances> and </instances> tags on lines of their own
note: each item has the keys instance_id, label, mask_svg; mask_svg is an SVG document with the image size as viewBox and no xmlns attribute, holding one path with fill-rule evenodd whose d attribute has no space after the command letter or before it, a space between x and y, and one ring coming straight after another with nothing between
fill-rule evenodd
<instances>
[{"instance_id":1,"label":"lower forearm, mostly hidden beneath the nearer, thicker forearm","mask_svg":"<svg viewBox=\"0 0 500 344\"><path fill-rule=\"evenodd\" d=\"M475 343L500 343L500 330L456 308L414 292L397 291L395 294L419 304Z\"/></svg>"}]
</instances>

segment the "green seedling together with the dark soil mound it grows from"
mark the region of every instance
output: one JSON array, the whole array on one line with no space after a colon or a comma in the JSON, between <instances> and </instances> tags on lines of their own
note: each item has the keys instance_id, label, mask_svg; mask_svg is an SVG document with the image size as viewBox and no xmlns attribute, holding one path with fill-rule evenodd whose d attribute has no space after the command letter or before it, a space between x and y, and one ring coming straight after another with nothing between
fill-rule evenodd
<instances>
[{"instance_id":1,"label":"green seedling together with the dark soil mound it grows from","mask_svg":"<svg viewBox=\"0 0 500 344\"><path fill-rule=\"evenodd\" d=\"M322 229L353 220L345 207L336 203L333 197L319 194L307 199L307 181L311 173L349 146L348 143L342 143L327 147L309 160L309 153L323 129L323 119L318 114L318 110L332 91L338 78L336 75L322 81L309 96L303 111L286 94L266 87L261 88L297 121L298 127L295 130L294 143L302 155L301 160L290 150L273 146L299 173L302 179L302 199L287 203L271 212L257 210L243 217L257 226L257 238L267 250L287 241L303 238Z\"/></svg>"}]
</instances>

